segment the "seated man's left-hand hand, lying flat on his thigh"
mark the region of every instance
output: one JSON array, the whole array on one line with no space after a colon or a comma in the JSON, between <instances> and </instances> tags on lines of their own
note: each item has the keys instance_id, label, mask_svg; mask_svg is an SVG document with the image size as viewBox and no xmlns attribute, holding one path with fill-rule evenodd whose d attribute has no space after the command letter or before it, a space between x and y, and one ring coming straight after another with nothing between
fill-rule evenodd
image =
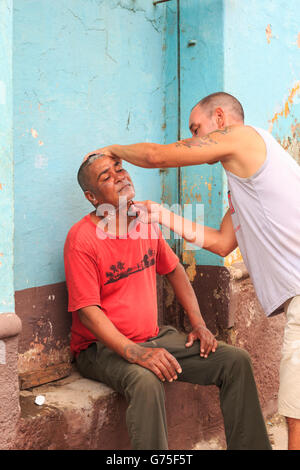
<instances>
[{"instance_id":1,"label":"seated man's left-hand hand, lying flat on his thigh","mask_svg":"<svg viewBox=\"0 0 300 470\"><path fill-rule=\"evenodd\" d=\"M124 357L128 362L151 370L162 382L172 382L177 379L177 373L182 372L175 357L164 348L130 345L127 346Z\"/></svg>"}]
</instances>

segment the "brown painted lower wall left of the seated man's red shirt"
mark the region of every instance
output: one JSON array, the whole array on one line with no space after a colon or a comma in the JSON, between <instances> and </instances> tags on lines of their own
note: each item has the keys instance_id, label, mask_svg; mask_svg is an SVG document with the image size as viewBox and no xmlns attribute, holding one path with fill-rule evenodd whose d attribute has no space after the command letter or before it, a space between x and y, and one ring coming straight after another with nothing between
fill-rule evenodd
<instances>
[{"instance_id":1,"label":"brown painted lower wall left of the seated man's red shirt","mask_svg":"<svg viewBox=\"0 0 300 470\"><path fill-rule=\"evenodd\" d=\"M16 313L23 324L18 361L21 388L70 373L71 314L67 300L64 282L15 293Z\"/></svg>"}]
</instances>

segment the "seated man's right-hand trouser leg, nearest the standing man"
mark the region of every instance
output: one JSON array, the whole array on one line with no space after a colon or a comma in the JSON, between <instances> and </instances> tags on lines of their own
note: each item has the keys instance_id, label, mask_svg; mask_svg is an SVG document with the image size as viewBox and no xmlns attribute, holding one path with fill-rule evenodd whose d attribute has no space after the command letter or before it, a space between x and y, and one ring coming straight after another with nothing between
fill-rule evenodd
<instances>
[{"instance_id":1,"label":"seated man's right-hand trouser leg, nearest the standing man","mask_svg":"<svg viewBox=\"0 0 300 470\"><path fill-rule=\"evenodd\" d=\"M176 357L182 367L178 380L219 387L227 448L271 450L248 353L219 343L205 359L200 357L199 341L186 348L186 339L187 335L165 329L153 343Z\"/></svg>"}]
</instances>

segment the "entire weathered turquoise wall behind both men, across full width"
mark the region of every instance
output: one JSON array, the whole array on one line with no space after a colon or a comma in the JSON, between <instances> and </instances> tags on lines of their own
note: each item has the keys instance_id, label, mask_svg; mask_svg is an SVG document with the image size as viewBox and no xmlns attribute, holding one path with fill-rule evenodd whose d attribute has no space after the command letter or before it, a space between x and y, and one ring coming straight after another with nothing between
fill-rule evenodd
<instances>
[{"instance_id":1,"label":"entire weathered turquoise wall behind both men, across full width","mask_svg":"<svg viewBox=\"0 0 300 470\"><path fill-rule=\"evenodd\" d=\"M11 4L0 2L5 41ZM191 107L224 90L241 100L246 123L270 129L299 158L298 1L15 0L13 14L13 92L11 43L1 41L0 56L0 312L13 309L13 221L15 289L64 280L67 231L91 209L76 182L86 152L188 137ZM127 167L137 199L202 203L205 223L219 225L227 207L220 165ZM223 263L202 250L193 259Z\"/></svg>"}]
</instances>

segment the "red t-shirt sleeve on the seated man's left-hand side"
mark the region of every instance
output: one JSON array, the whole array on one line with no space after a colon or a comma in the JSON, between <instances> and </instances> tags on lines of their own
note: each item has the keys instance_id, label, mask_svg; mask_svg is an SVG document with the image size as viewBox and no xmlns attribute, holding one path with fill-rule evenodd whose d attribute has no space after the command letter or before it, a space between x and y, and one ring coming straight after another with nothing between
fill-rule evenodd
<instances>
[{"instance_id":1,"label":"red t-shirt sleeve on the seated man's left-hand side","mask_svg":"<svg viewBox=\"0 0 300 470\"><path fill-rule=\"evenodd\" d=\"M68 311L74 312L89 305L100 307L100 272L89 253L75 248L64 253Z\"/></svg>"}]
</instances>

